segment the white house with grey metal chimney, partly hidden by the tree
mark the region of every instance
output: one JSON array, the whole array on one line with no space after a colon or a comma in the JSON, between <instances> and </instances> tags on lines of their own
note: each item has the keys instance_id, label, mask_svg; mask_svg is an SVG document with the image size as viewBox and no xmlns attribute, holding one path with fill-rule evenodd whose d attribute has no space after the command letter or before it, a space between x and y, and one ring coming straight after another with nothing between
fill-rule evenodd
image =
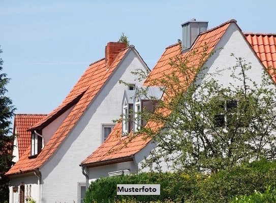
<instances>
[{"instance_id":1,"label":"white house with grey metal chimney, partly hidden by the tree","mask_svg":"<svg viewBox=\"0 0 276 203\"><path fill-rule=\"evenodd\" d=\"M234 53L251 62L254 69L250 70L249 74L255 82L260 82L263 69L267 69L275 81L275 73L272 70L276 69L275 34L243 33L236 20L227 21L207 30L206 21L193 19L183 23L182 30L182 50L179 49L179 43L168 46L149 74L144 86L151 85L152 81L163 77L163 73L170 74L172 71L171 59L180 54L190 57L190 62L194 63L193 65L199 65L199 55L203 53L205 45L207 45L206 52L208 54L216 51L202 64L206 67L204 70L206 73L216 73L218 67L225 69L225 67L234 66L236 60L230 56L231 53ZM193 55L195 50L197 54ZM230 73L226 69L221 75L216 76L219 84L227 85L231 80ZM235 84L239 81L231 82ZM134 101L132 101L132 105ZM126 114L124 109L127 108L127 103L123 104L122 113ZM136 112L135 108L133 111ZM126 123L122 119L122 123L116 124L109 138L81 162L80 166L86 171L87 183L101 177L137 173L138 170L147 171L147 168L141 167L142 162L149 152L157 147L157 144L150 138L144 139L141 134L133 138L131 136L133 130L127 131L127 128L124 128L125 125ZM156 125L156 123L152 122L148 125ZM155 126L153 127L155 128ZM130 132L130 139L124 136L124 131ZM163 171L170 170L166 165L162 167Z\"/></svg>"}]
</instances>

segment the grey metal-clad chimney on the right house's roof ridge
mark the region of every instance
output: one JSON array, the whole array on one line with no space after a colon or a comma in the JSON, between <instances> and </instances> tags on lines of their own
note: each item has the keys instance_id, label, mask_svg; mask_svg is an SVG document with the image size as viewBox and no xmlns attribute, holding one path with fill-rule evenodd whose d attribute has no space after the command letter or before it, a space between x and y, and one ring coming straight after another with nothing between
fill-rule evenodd
<instances>
[{"instance_id":1,"label":"grey metal-clad chimney on the right house's roof ridge","mask_svg":"<svg viewBox=\"0 0 276 203\"><path fill-rule=\"evenodd\" d=\"M200 32L206 31L208 27L208 21L196 21L192 18L182 26L182 51L189 50L194 44Z\"/></svg>"}]
</instances>

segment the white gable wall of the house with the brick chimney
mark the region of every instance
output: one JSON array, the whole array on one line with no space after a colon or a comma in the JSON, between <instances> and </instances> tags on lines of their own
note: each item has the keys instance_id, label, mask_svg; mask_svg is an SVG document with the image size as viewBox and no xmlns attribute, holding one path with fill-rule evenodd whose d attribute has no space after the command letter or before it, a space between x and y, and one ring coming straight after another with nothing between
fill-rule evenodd
<instances>
[{"instance_id":1,"label":"white gable wall of the house with the brick chimney","mask_svg":"<svg viewBox=\"0 0 276 203\"><path fill-rule=\"evenodd\" d=\"M85 183L79 164L100 146L101 124L119 118L126 86L118 81L137 83L131 74L136 69L146 67L131 49L63 144L42 166L42 202L78 202L78 183Z\"/></svg>"}]
</instances>

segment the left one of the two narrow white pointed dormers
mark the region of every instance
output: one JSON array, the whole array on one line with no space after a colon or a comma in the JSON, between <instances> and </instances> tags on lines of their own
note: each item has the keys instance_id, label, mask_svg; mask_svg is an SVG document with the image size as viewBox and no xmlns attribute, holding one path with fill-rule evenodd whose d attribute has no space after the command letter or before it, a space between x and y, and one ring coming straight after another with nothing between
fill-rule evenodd
<instances>
[{"instance_id":1,"label":"left one of the two narrow white pointed dormers","mask_svg":"<svg viewBox=\"0 0 276 203\"><path fill-rule=\"evenodd\" d=\"M135 88L132 90L125 90L124 98L122 99L122 134L125 135L130 132L132 128L132 109L133 98L135 95Z\"/></svg>"}]
</instances>

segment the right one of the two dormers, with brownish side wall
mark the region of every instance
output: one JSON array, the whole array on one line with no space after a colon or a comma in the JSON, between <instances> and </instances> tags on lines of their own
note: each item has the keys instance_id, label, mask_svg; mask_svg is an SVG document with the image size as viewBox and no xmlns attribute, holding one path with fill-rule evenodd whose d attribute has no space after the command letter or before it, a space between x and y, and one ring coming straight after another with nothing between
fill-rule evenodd
<instances>
[{"instance_id":1,"label":"right one of the two dormers, with brownish side wall","mask_svg":"<svg viewBox=\"0 0 276 203\"><path fill-rule=\"evenodd\" d=\"M158 101L161 99L163 91L159 87L140 87L135 91L133 99L133 131L137 132L141 126L145 125L141 113L155 111Z\"/></svg>"}]
</instances>

